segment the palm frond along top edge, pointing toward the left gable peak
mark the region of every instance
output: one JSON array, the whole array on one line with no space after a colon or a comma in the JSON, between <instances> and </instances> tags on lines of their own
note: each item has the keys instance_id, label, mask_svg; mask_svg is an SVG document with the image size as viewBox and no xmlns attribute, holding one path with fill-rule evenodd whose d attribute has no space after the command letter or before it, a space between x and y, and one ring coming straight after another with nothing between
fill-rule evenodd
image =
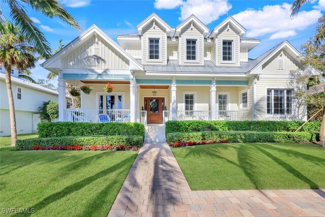
<instances>
[{"instance_id":1,"label":"palm frond along top edge, pointing toward the left gable peak","mask_svg":"<svg viewBox=\"0 0 325 217\"><path fill-rule=\"evenodd\" d=\"M78 22L64 9L64 7L57 0L21 0L28 4L32 9L41 12L42 14L53 18L59 17L70 26L80 30L81 27Z\"/></svg>"}]
</instances>

